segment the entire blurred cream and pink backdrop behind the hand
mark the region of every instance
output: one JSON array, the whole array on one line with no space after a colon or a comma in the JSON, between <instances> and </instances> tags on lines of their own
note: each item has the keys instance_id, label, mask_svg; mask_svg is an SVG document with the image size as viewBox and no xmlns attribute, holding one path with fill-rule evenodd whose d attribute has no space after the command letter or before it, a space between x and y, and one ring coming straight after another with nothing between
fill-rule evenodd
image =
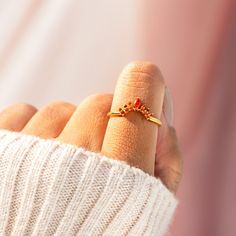
<instances>
[{"instance_id":1,"label":"entire blurred cream and pink backdrop behind the hand","mask_svg":"<svg viewBox=\"0 0 236 236\"><path fill-rule=\"evenodd\" d=\"M0 108L113 92L121 69L163 72L184 154L169 235L236 235L235 0L1 0Z\"/></svg>"}]
</instances>

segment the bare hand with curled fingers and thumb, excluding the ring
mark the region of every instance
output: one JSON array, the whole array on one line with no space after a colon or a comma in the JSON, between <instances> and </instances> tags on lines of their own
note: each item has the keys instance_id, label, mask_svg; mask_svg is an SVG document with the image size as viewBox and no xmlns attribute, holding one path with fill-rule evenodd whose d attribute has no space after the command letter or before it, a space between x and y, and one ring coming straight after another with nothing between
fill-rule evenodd
<instances>
[{"instance_id":1,"label":"bare hand with curled fingers and thumb, excluding the ring","mask_svg":"<svg viewBox=\"0 0 236 236\"><path fill-rule=\"evenodd\" d=\"M161 178L176 193L182 176L182 159L172 127L171 99L160 70L150 62L131 62L121 72L113 94L87 97L78 106L52 102L37 110L29 104L14 104L0 113L0 128L101 152L126 161ZM130 112L126 117L107 117L139 97L163 125Z\"/></svg>"}]
</instances>

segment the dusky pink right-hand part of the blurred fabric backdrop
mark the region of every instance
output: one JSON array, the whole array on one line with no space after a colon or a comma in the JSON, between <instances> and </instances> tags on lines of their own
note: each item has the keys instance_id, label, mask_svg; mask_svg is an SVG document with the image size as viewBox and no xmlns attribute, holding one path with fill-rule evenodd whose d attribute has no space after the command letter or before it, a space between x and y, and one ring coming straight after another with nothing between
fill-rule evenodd
<instances>
[{"instance_id":1,"label":"dusky pink right-hand part of the blurred fabric backdrop","mask_svg":"<svg viewBox=\"0 0 236 236\"><path fill-rule=\"evenodd\" d=\"M234 236L235 1L151 2L143 40L173 92L185 160L171 235Z\"/></svg>"}]
</instances>

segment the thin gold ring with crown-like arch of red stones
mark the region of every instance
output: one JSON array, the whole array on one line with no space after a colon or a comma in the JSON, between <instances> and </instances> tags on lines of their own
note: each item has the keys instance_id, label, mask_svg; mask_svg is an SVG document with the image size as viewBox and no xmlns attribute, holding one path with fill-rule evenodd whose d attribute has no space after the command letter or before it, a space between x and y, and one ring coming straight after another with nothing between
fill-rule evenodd
<instances>
[{"instance_id":1,"label":"thin gold ring with crown-like arch of red stones","mask_svg":"<svg viewBox=\"0 0 236 236\"><path fill-rule=\"evenodd\" d=\"M150 112L150 109L147 108L144 104L142 104L140 98L136 98L134 103L128 102L128 104L125 104L123 107L119 108L119 111L117 112L108 112L107 116L109 117L123 117L127 115L130 111L138 111L140 112L148 121L154 122L158 126L161 126L161 121L154 117L154 114Z\"/></svg>"}]
</instances>

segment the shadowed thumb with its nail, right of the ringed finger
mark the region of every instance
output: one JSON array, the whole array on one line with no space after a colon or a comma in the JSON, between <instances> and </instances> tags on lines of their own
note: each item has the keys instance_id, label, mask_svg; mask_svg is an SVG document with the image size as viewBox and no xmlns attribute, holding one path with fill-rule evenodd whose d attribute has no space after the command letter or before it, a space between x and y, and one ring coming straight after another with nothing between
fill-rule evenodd
<instances>
[{"instance_id":1,"label":"shadowed thumb with its nail, right of the ringed finger","mask_svg":"<svg viewBox=\"0 0 236 236\"><path fill-rule=\"evenodd\" d=\"M155 160L155 176L176 192L182 177L182 155L173 125L173 103L168 89L165 92L162 127L160 128Z\"/></svg>"}]
</instances>

